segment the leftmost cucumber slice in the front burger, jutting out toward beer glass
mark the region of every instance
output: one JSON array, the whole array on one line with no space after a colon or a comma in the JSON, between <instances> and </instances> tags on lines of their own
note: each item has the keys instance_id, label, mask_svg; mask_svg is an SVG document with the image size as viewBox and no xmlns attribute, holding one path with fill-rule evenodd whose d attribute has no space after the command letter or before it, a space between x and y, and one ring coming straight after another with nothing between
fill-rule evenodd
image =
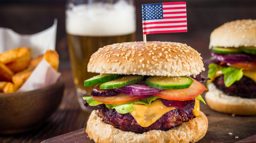
<instances>
[{"instance_id":1,"label":"leftmost cucumber slice in the front burger, jutting out toward beer glass","mask_svg":"<svg viewBox=\"0 0 256 143\"><path fill-rule=\"evenodd\" d=\"M88 86L92 86L92 85L96 85L99 83L104 83L104 82L108 82L111 81L113 79L122 77L124 75L122 74L100 74L100 75L96 75L94 77L91 77L87 80L84 81L84 86L88 87Z\"/></svg>"}]
</instances>

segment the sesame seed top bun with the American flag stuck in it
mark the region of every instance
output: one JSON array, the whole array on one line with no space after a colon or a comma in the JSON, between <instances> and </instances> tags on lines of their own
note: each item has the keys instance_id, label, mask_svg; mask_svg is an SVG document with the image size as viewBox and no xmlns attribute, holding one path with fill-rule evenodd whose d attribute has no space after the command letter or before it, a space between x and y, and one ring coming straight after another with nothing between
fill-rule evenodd
<instances>
[{"instance_id":1,"label":"sesame seed top bun with the American flag stuck in it","mask_svg":"<svg viewBox=\"0 0 256 143\"><path fill-rule=\"evenodd\" d=\"M104 46L88 64L89 72L189 76L204 71L200 54L176 42L125 42Z\"/></svg>"}]
</instances>

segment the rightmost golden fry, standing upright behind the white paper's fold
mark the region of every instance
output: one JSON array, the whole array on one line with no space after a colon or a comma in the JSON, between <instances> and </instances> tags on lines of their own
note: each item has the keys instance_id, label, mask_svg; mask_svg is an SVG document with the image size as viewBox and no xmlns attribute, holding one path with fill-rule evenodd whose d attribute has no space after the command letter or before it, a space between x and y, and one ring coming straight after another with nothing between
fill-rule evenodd
<instances>
[{"instance_id":1,"label":"rightmost golden fry, standing upright behind the white paper's fold","mask_svg":"<svg viewBox=\"0 0 256 143\"><path fill-rule=\"evenodd\" d=\"M59 54L54 50L47 50L43 57L56 71L59 67Z\"/></svg>"}]
</instances>

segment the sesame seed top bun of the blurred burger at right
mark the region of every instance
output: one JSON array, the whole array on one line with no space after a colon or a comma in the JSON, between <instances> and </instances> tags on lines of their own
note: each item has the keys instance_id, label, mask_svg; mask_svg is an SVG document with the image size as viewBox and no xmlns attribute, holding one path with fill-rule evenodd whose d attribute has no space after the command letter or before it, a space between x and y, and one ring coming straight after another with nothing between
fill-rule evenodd
<instances>
[{"instance_id":1,"label":"sesame seed top bun of the blurred burger at right","mask_svg":"<svg viewBox=\"0 0 256 143\"><path fill-rule=\"evenodd\" d=\"M224 23L210 35L209 48L218 47L256 47L256 20L243 19Z\"/></svg>"}]
</instances>

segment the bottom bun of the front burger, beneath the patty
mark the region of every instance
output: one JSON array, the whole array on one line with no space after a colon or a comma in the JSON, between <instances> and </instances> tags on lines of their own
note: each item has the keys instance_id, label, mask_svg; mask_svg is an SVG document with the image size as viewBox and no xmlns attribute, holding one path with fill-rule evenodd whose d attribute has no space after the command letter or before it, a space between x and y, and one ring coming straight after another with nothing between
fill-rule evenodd
<instances>
[{"instance_id":1,"label":"bottom bun of the front burger, beneath the patty","mask_svg":"<svg viewBox=\"0 0 256 143\"><path fill-rule=\"evenodd\" d=\"M96 143L194 143L203 138L207 128L208 119L200 111L198 117L171 130L151 130L143 134L136 134L105 124L102 118L98 117L98 110L94 110L87 121L86 133Z\"/></svg>"}]
</instances>

